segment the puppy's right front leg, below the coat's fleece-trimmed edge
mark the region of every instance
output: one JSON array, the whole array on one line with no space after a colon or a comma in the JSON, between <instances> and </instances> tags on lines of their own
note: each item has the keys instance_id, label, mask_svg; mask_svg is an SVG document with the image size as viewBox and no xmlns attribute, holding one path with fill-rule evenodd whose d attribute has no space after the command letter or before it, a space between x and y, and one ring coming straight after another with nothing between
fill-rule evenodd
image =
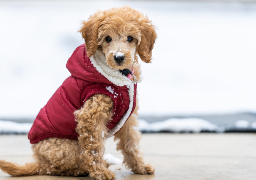
<instances>
[{"instance_id":1,"label":"puppy's right front leg, below the coat's fleece-trimmed edge","mask_svg":"<svg viewBox=\"0 0 256 180\"><path fill-rule=\"evenodd\" d=\"M135 130L134 127L138 126L136 116L138 110L138 103L133 114L126 121L124 126L115 135L117 143L117 150L121 150L124 155L123 163L127 168L131 169L135 174L153 174L155 168L150 164L145 164L143 155L139 150L139 141L141 133Z\"/></svg>"}]
</instances>

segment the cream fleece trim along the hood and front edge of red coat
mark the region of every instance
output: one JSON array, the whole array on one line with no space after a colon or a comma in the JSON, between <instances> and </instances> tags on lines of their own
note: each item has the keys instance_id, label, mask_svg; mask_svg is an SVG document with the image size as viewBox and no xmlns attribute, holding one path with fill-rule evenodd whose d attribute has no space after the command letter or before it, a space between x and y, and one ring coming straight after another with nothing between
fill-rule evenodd
<instances>
[{"instance_id":1,"label":"cream fleece trim along the hood and front edge of red coat","mask_svg":"<svg viewBox=\"0 0 256 180\"><path fill-rule=\"evenodd\" d=\"M117 69L113 69L106 64L106 57L104 53L96 51L96 53L90 58L91 64L96 68L96 70L105 76L111 83L116 86L127 86L128 94L130 99L130 104L128 111L123 115L119 123L108 132L107 138L116 134L121 127L125 124L126 120L129 118L134 101L134 83L131 82L129 78L119 72Z\"/></svg>"}]
</instances>

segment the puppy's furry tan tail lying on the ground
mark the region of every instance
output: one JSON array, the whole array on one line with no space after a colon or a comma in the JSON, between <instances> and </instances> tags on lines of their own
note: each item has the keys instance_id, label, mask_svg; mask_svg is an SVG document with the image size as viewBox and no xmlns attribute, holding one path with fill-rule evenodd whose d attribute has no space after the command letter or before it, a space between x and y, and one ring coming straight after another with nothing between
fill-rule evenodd
<instances>
[{"instance_id":1,"label":"puppy's furry tan tail lying on the ground","mask_svg":"<svg viewBox=\"0 0 256 180\"><path fill-rule=\"evenodd\" d=\"M24 166L20 166L16 163L0 160L0 169L12 176L30 176L39 174L40 166L36 163L26 163Z\"/></svg>"}]
</instances>

